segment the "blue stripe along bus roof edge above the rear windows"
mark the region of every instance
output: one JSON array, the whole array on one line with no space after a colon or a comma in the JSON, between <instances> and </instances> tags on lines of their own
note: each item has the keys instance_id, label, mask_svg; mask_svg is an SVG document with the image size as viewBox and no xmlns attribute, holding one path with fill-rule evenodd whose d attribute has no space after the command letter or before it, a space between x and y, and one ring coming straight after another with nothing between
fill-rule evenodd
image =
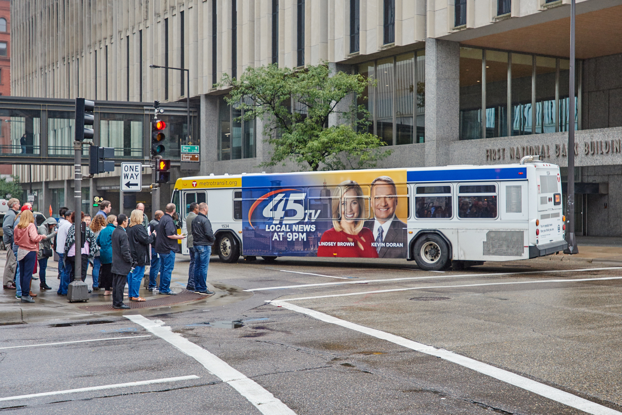
<instances>
[{"instance_id":1,"label":"blue stripe along bus roof edge above the rear windows","mask_svg":"<svg viewBox=\"0 0 622 415\"><path fill-rule=\"evenodd\" d=\"M526 180L526 167L496 169L414 170L406 172L408 182L459 182L462 180Z\"/></svg>"}]
</instances>

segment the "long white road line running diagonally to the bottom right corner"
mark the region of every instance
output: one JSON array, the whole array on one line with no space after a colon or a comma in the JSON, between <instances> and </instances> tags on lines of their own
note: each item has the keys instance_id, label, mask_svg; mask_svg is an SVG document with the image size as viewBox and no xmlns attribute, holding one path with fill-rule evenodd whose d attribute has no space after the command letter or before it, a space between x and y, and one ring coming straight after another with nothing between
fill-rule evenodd
<instances>
[{"instance_id":1,"label":"long white road line running diagonally to the bottom right corner","mask_svg":"<svg viewBox=\"0 0 622 415\"><path fill-rule=\"evenodd\" d=\"M437 349L435 347L414 342L407 338L399 337L391 333L383 332L381 330L370 329L369 327L365 327L363 325L338 319L337 317L333 317L332 315L324 314L322 312L312 309L305 309L304 307L299 307L298 305L289 304L289 302L271 301L271 304L281 305L286 309L309 315L314 319L340 325L341 327L345 327L346 329L356 330L357 332L361 332L376 338L381 338L383 340L387 340L388 342L396 343L397 345L416 350L417 352L422 352L428 355L443 358L445 360L451 361L452 363L456 363L457 365L465 366L466 368L478 371L480 373L483 373L484 375L488 375L492 378L509 383L510 385L518 386L519 388L526 389L527 391L539 394L540 396L544 396L545 398L549 398L572 408L579 409L580 411L587 412L588 414L622 415L622 413L615 411L614 409L607 408L606 406L594 403L592 401L588 401L587 399L579 398L572 393L561 391L560 389L553 388L552 386L544 385L544 383L524 378L523 376L516 375L516 373L496 368L495 366L488 365L486 363L482 363L481 361L464 357L462 355L458 355L457 353L449 352L448 350Z\"/></svg>"}]
</instances>

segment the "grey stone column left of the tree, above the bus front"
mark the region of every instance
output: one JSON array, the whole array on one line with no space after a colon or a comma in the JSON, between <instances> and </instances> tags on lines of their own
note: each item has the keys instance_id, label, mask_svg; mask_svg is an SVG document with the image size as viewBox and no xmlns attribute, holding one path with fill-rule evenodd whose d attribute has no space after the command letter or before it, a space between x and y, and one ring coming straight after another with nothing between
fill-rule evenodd
<instances>
[{"instance_id":1,"label":"grey stone column left of the tree, above the bus front","mask_svg":"<svg viewBox=\"0 0 622 415\"><path fill-rule=\"evenodd\" d=\"M200 175L214 172L218 161L218 96L201 95L201 166Z\"/></svg>"}]
</instances>

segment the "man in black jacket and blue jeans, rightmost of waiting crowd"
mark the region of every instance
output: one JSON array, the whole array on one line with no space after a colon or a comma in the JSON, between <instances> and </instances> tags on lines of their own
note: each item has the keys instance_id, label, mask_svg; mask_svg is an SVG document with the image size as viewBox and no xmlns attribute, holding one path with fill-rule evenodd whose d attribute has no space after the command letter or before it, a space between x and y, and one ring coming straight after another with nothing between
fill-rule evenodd
<instances>
[{"instance_id":1,"label":"man in black jacket and blue jeans, rightmost of waiting crowd","mask_svg":"<svg viewBox=\"0 0 622 415\"><path fill-rule=\"evenodd\" d=\"M198 215L192 220L192 245L195 251L195 292L211 296L213 291L207 289L207 267L210 264L211 246L214 245L214 233L207 218L207 203L199 203Z\"/></svg>"}]
</instances>

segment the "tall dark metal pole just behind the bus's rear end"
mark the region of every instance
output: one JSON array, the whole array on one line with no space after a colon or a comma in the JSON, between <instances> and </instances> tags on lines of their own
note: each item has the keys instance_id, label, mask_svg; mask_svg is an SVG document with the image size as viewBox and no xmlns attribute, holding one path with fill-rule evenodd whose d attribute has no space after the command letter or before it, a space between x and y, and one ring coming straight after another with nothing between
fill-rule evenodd
<instances>
[{"instance_id":1,"label":"tall dark metal pole just behind the bus's rear end","mask_svg":"<svg viewBox=\"0 0 622 415\"><path fill-rule=\"evenodd\" d=\"M575 0L570 2L570 85L568 91L568 229L566 241L568 248L564 253L578 254L575 237Z\"/></svg>"}]
</instances>

